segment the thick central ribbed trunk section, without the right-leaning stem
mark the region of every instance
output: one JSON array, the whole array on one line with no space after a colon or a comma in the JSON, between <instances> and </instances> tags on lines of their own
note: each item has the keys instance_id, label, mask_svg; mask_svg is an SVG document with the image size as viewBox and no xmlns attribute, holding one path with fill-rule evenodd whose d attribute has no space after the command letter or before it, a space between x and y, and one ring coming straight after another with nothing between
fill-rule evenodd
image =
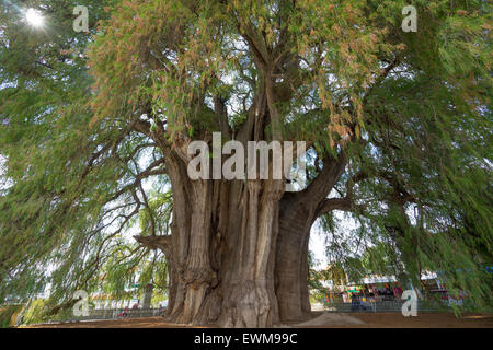
<instances>
[{"instance_id":1,"label":"thick central ribbed trunk section, without the right-leaning stem","mask_svg":"<svg viewBox=\"0 0 493 350\"><path fill-rule=\"evenodd\" d=\"M180 164L167 164L173 186L168 318L230 327L276 323L283 182L190 180Z\"/></svg>"}]
</instances>

